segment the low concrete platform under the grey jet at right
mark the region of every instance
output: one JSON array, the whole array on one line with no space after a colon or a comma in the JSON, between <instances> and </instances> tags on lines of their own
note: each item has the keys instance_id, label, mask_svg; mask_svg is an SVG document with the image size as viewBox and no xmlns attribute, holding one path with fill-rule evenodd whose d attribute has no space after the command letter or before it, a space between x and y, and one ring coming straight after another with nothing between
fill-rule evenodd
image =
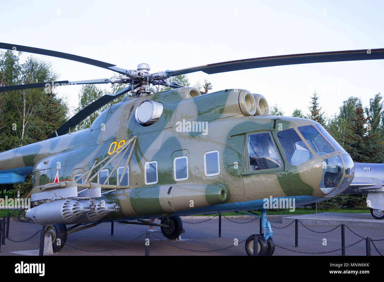
<instances>
[{"instance_id":1,"label":"low concrete platform under the grey jet at right","mask_svg":"<svg viewBox=\"0 0 384 282\"><path fill-rule=\"evenodd\" d=\"M282 218L282 223L291 223L294 219L299 219L303 224L337 226L346 224L347 226L384 228L384 220L374 219L370 213L318 213L286 216Z\"/></svg>"}]
</instances>

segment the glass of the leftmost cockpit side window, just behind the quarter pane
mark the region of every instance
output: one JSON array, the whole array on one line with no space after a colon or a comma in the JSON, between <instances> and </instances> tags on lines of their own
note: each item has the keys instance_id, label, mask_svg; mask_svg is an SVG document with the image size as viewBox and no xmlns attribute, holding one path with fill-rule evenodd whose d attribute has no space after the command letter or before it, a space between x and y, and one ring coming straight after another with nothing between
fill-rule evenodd
<instances>
[{"instance_id":1,"label":"glass of the leftmost cockpit side window, just behind the quarter pane","mask_svg":"<svg viewBox=\"0 0 384 282\"><path fill-rule=\"evenodd\" d=\"M249 170L265 170L282 166L272 137L268 132L248 135Z\"/></svg>"}]
</instances>

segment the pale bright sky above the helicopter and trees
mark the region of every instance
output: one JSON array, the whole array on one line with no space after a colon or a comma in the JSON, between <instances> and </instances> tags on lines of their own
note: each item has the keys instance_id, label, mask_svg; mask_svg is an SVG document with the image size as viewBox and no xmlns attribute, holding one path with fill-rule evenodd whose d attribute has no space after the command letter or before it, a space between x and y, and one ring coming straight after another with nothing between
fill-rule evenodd
<instances>
[{"instance_id":1,"label":"pale bright sky above the helicopter and trees","mask_svg":"<svg viewBox=\"0 0 384 282\"><path fill-rule=\"evenodd\" d=\"M84 56L151 73L236 59L384 48L383 1L2 1L0 42ZM28 53L23 53L24 60ZM33 54L58 80L111 78L87 64ZM247 89L291 115L312 92L330 117L348 97L384 92L384 60L301 64L188 75L212 91ZM100 86L109 88L109 86ZM56 88L71 109L81 86Z\"/></svg>"}]
</instances>

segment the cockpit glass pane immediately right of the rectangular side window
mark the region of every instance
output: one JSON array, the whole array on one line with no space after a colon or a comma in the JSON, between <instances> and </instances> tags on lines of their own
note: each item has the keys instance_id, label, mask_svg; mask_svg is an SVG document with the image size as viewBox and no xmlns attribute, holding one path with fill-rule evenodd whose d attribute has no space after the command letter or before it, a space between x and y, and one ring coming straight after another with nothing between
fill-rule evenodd
<instances>
[{"instance_id":1,"label":"cockpit glass pane immediately right of the rectangular side window","mask_svg":"<svg viewBox=\"0 0 384 282\"><path fill-rule=\"evenodd\" d=\"M284 155L291 165L301 165L314 158L295 129L282 130L277 133L277 137L283 148Z\"/></svg>"}]
</instances>

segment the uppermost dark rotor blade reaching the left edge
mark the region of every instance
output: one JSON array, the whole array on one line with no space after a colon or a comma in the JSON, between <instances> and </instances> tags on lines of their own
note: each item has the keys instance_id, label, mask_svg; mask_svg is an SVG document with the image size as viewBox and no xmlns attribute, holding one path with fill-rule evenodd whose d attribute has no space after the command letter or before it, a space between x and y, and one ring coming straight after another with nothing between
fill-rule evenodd
<instances>
[{"instance_id":1,"label":"uppermost dark rotor blade reaching the left edge","mask_svg":"<svg viewBox=\"0 0 384 282\"><path fill-rule=\"evenodd\" d=\"M62 53L62 52L52 51L47 49L40 49L40 48L28 47L23 45L15 45L15 44L9 44L9 43L0 43L0 49L22 51L22 52L47 55L47 56L52 56L52 57L57 57L62 59L68 59L71 61L90 64L92 66L97 66L104 69L110 69L112 71L116 71L121 74L127 74L127 72L129 72L126 69L117 68L115 64L109 64L109 63L105 63L105 62L94 60L94 59L89 59L81 56L76 56L72 54L67 54L67 53Z\"/></svg>"}]
</instances>

